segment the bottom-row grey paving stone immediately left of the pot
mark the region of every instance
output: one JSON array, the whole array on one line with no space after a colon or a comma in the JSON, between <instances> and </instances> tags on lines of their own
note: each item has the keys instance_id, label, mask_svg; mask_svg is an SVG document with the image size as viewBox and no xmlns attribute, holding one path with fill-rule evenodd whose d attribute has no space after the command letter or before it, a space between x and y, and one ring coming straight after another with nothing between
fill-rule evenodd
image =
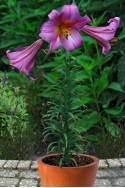
<instances>
[{"instance_id":1,"label":"bottom-row grey paving stone immediately left of the pot","mask_svg":"<svg viewBox=\"0 0 125 188\"><path fill-rule=\"evenodd\" d=\"M22 179L19 183L19 187L37 187L38 181L34 179Z\"/></svg>"}]
</instances>

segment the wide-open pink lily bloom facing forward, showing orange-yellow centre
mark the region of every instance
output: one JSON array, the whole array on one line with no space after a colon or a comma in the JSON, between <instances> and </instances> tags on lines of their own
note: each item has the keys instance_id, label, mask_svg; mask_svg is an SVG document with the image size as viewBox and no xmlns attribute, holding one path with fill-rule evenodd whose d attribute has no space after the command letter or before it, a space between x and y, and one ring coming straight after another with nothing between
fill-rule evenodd
<instances>
[{"instance_id":1,"label":"wide-open pink lily bloom facing forward, showing orange-yellow centre","mask_svg":"<svg viewBox=\"0 0 125 188\"><path fill-rule=\"evenodd\" d=\"M53 10L48 17L50 22L42 25L39 36L51 42L49 53L61 46L72 52L82 44L78 31L91 20L87 15L81 18L75 4L64 5L61 12Z\"/></svg>"}]
</instances>

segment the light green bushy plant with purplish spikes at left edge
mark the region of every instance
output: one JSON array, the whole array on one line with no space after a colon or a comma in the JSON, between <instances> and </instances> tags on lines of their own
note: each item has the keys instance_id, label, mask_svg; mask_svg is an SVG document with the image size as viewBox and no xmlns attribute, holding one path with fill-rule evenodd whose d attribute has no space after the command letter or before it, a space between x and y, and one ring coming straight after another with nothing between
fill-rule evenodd
<instances>
[{"instance_id":1,"label":"light green bushy plant with purplish spikes at left edge","mask_svg":"<svg viewBox=\"0 0 125 188\"><path fill-rule=\"evenodd\" d=\"M32 130L24 96L0 74L0 159L26 159L32 152Z\"/></svg>"}]
</instances>

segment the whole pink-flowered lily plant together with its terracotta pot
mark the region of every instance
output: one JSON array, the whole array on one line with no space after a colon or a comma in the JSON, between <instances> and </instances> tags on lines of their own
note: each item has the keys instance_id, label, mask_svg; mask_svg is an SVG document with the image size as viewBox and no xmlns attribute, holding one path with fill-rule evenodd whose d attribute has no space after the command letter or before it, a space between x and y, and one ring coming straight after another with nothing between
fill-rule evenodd
<instances>
[{"instance_id":1,"label":"whole pink-flowered lily plant together with its terracotta pot","mask_svg":"<svg viewBox=\"0 0 125 188\"><path fill-rule=\"evenodd\" d=\"M50 103L50 110L44 116L46 124L43 135L48 138L52 135L55 140L48 146L50 153L37 160L42 186L44 187L92 187L94 186L99 160L83 154L83 137L76 126L78 110L73 108L75 91L75 77L77 70L73 67L70 52L82 45L83 39L79 31L95 38L102 47L102 55L106 55L113 42L119 27L120 18L111 18L108 26L89 26L91 19L88 15L80 17L76 4L64 5L60 12L53 10L48 15L50 21L40 28L38 39L31 46L18 48L14 52L7 50L10 64L28 75L34 66L35 57L42 48L44 41L50 43L48 55L58 48L64 52L64 78L59 80L55 100ZM74 74L75 71L75 74Z\"/></svg>"}]
</instances>

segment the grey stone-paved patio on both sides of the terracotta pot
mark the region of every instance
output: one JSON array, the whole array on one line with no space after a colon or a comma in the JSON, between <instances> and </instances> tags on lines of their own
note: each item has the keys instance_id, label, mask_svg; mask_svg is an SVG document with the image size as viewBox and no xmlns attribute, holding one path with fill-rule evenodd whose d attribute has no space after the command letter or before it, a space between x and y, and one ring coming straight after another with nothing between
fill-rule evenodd
<instances>
[{"instance_id":1,"label":"grey stone-paved patio on both sides of the terracotta pot","mask_svg":"<svg viewBox=\"0 0 125 188\"><path fill-rule=\"evenodd\" d=\"M125 187L125 158L100 160L96 187ZM0 187L40 187L36 161L0 160Z\"/></svg>"}]
</instances>

